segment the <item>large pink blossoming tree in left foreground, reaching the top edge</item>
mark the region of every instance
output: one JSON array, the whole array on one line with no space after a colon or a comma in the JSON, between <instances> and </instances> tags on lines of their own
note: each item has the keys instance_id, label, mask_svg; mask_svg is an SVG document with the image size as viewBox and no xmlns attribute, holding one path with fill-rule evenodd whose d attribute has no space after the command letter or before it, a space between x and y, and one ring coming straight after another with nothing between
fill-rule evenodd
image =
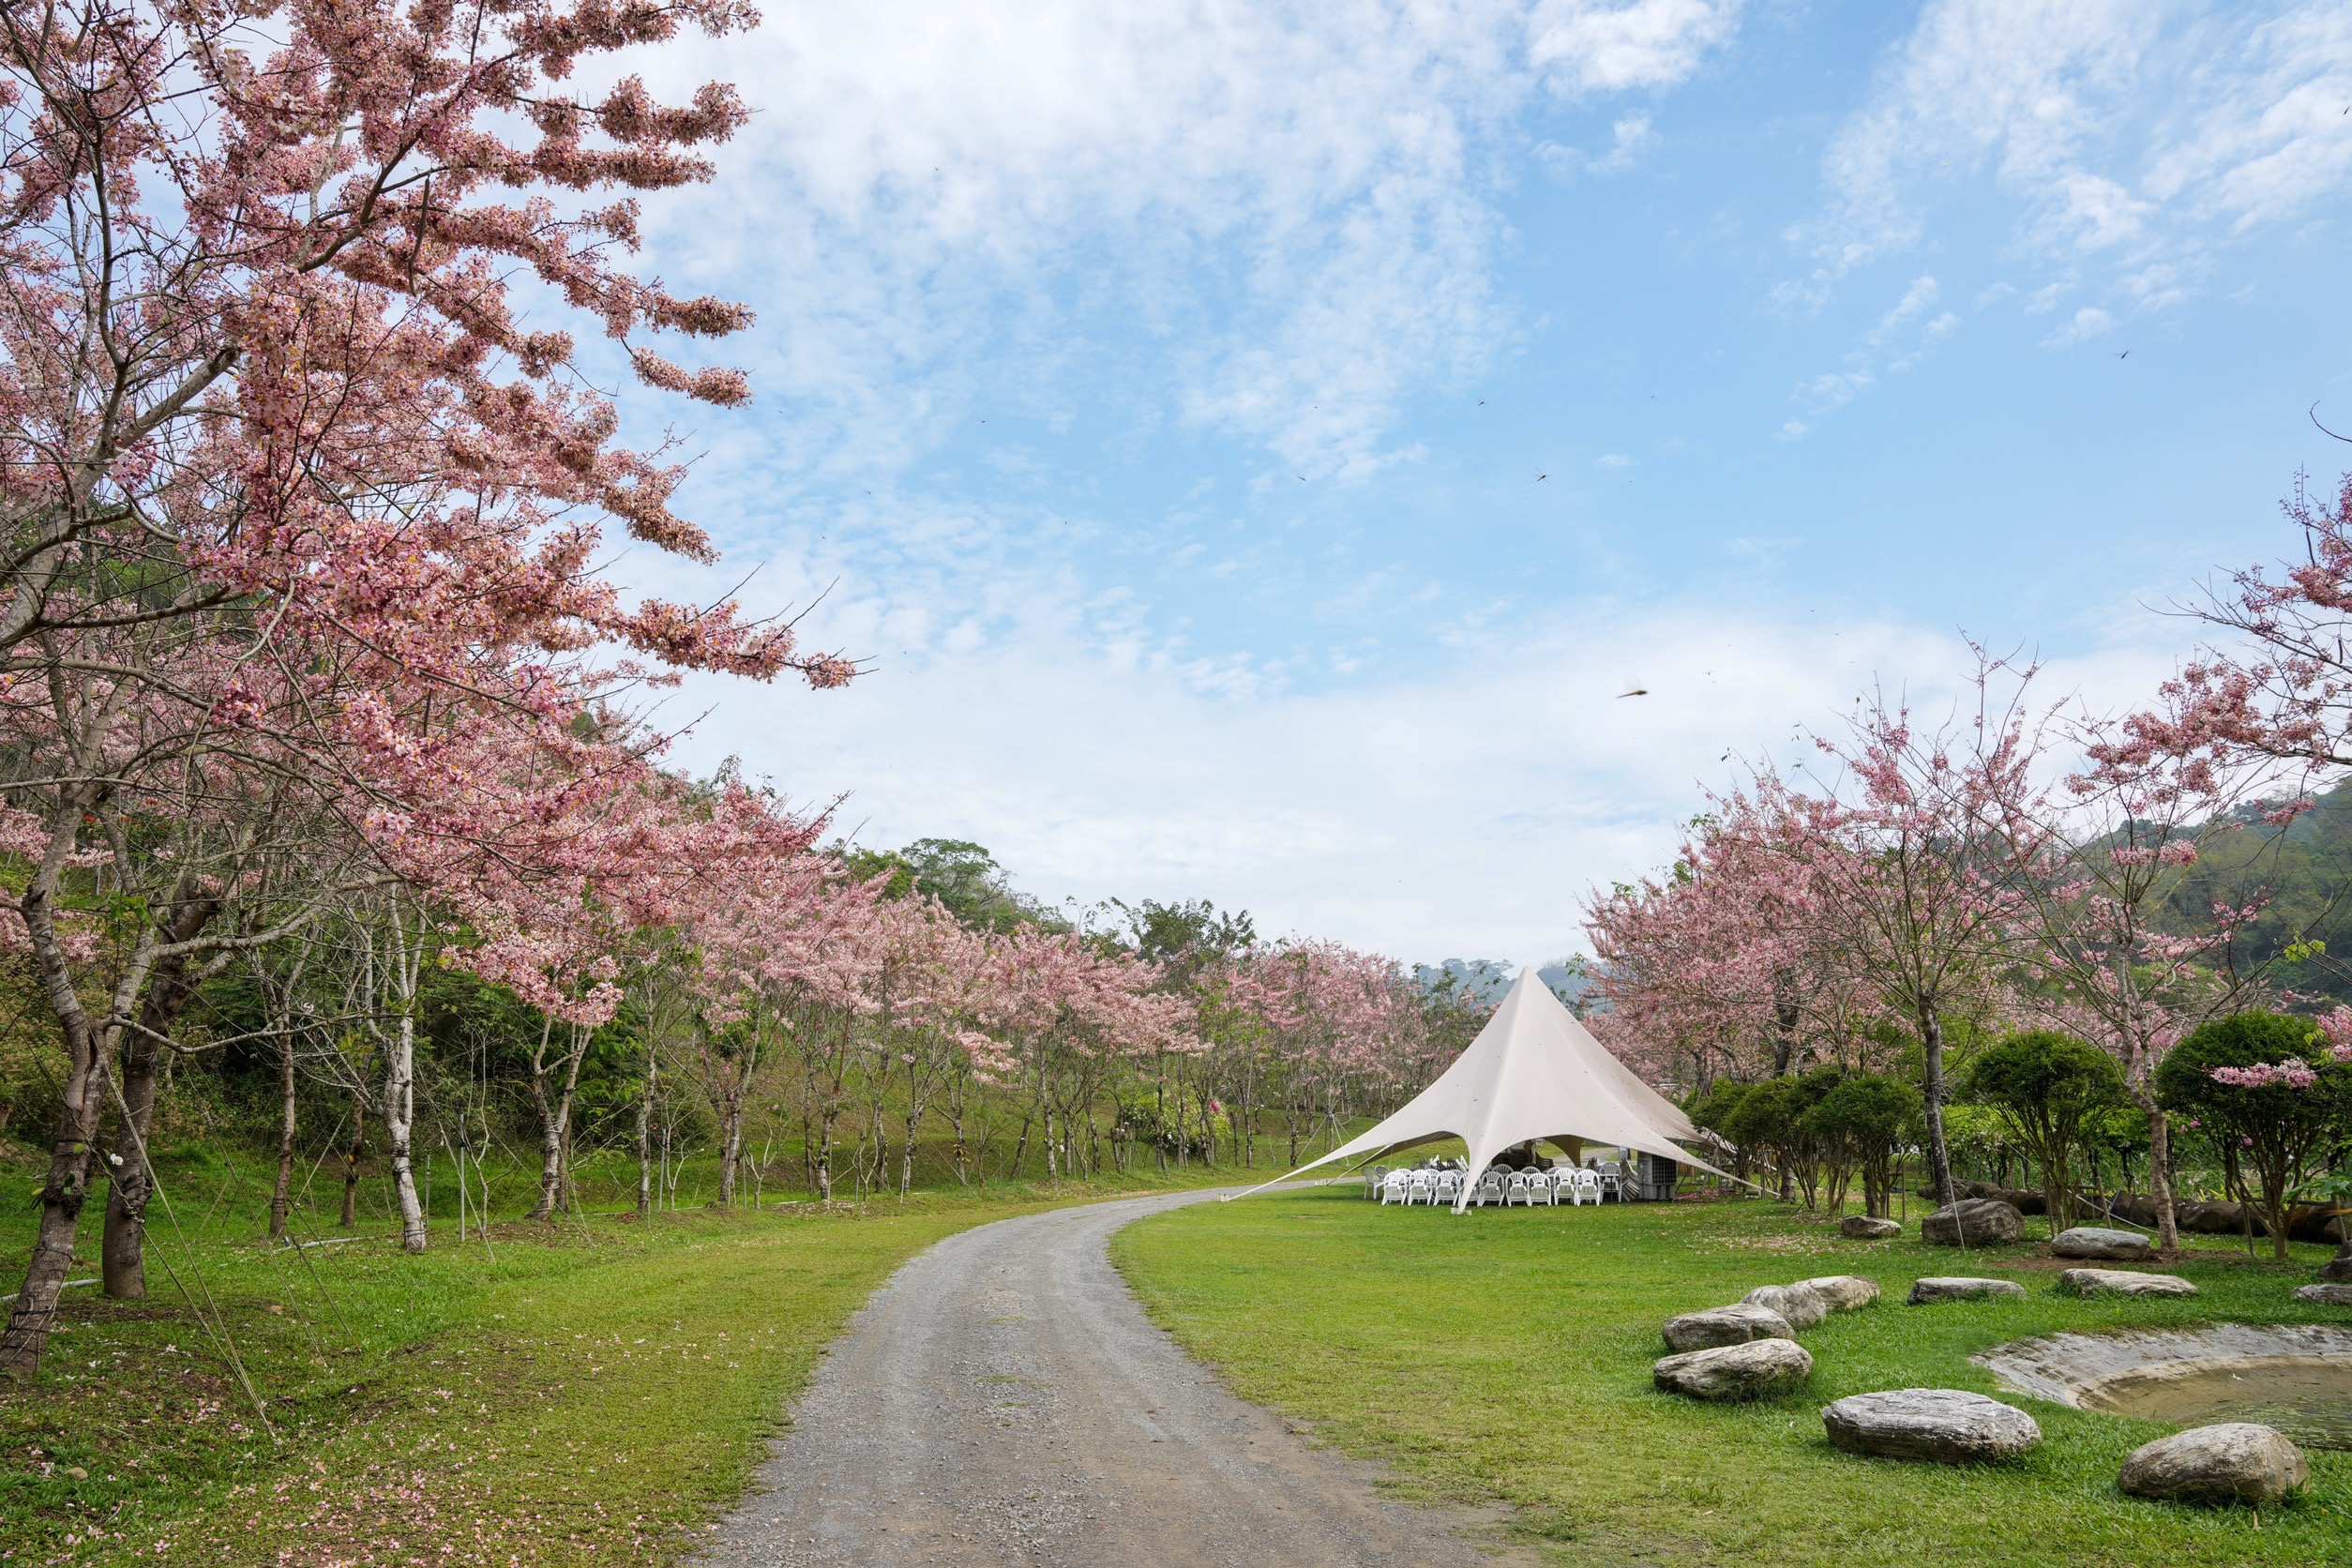
<instances>
[{"instance_id":1,"label":"large pink blossoming tree in left foreground, reaching the top edge","mask_svg":"<svg viewBox=\"0 0 2352 1568\"><path fill-rule=\"evenodd\" d=\"M628 602L595 574L602 520L710 548L670 510L680 470L614 442L572 336L508 299L529 275L642 381L746 397L741 374L647 343L743 310L623 266L635 193L706 179L739 101L663 106L637 78L586 101L567 82L748 21L731 0L0 14L0 792L21 813L9 896L71 1063L0 1366L38 1366L125 1041L169 1039L221 952L386 875L353 823L402 797L402 769L376 764L477 701L562 724L579 682L557 665L600 644L847 677L783 625ZM176 816L191 795L207 811ZM155 853L153 820L186 820L195 853ZM301 835L348 875L268 877ZM320 896L249 898L296 884ZM139 917L78 947L75 910L101 898Z\"/></svg>"}]
</instances>

